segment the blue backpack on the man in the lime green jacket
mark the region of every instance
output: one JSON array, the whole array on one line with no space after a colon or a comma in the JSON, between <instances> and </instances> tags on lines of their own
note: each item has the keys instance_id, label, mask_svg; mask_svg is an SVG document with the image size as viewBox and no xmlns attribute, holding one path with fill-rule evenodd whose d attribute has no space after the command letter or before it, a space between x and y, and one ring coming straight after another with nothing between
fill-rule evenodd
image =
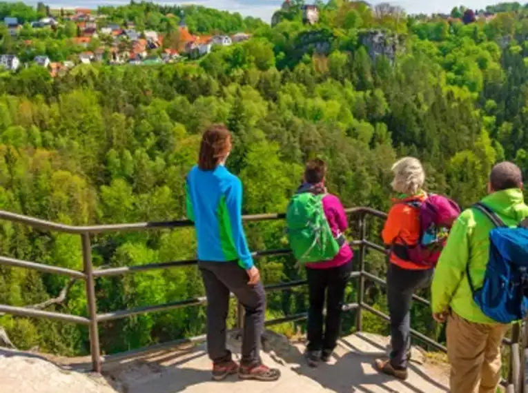
<instances>
[{"instance_id":1,"label":"blue backpack on the man in the lime green jacket","mask_svg":"<svg viewBox=\"0 0 528 393\"><path fill-rule=\"evenodd\" d=\"M489 318L512 323L528 311L528 219L509 228L487 205L473 206L495 225L489 232L489 261L482 288L476 289L466 267L473 300Z\"/></svg>"}]
</instances>

